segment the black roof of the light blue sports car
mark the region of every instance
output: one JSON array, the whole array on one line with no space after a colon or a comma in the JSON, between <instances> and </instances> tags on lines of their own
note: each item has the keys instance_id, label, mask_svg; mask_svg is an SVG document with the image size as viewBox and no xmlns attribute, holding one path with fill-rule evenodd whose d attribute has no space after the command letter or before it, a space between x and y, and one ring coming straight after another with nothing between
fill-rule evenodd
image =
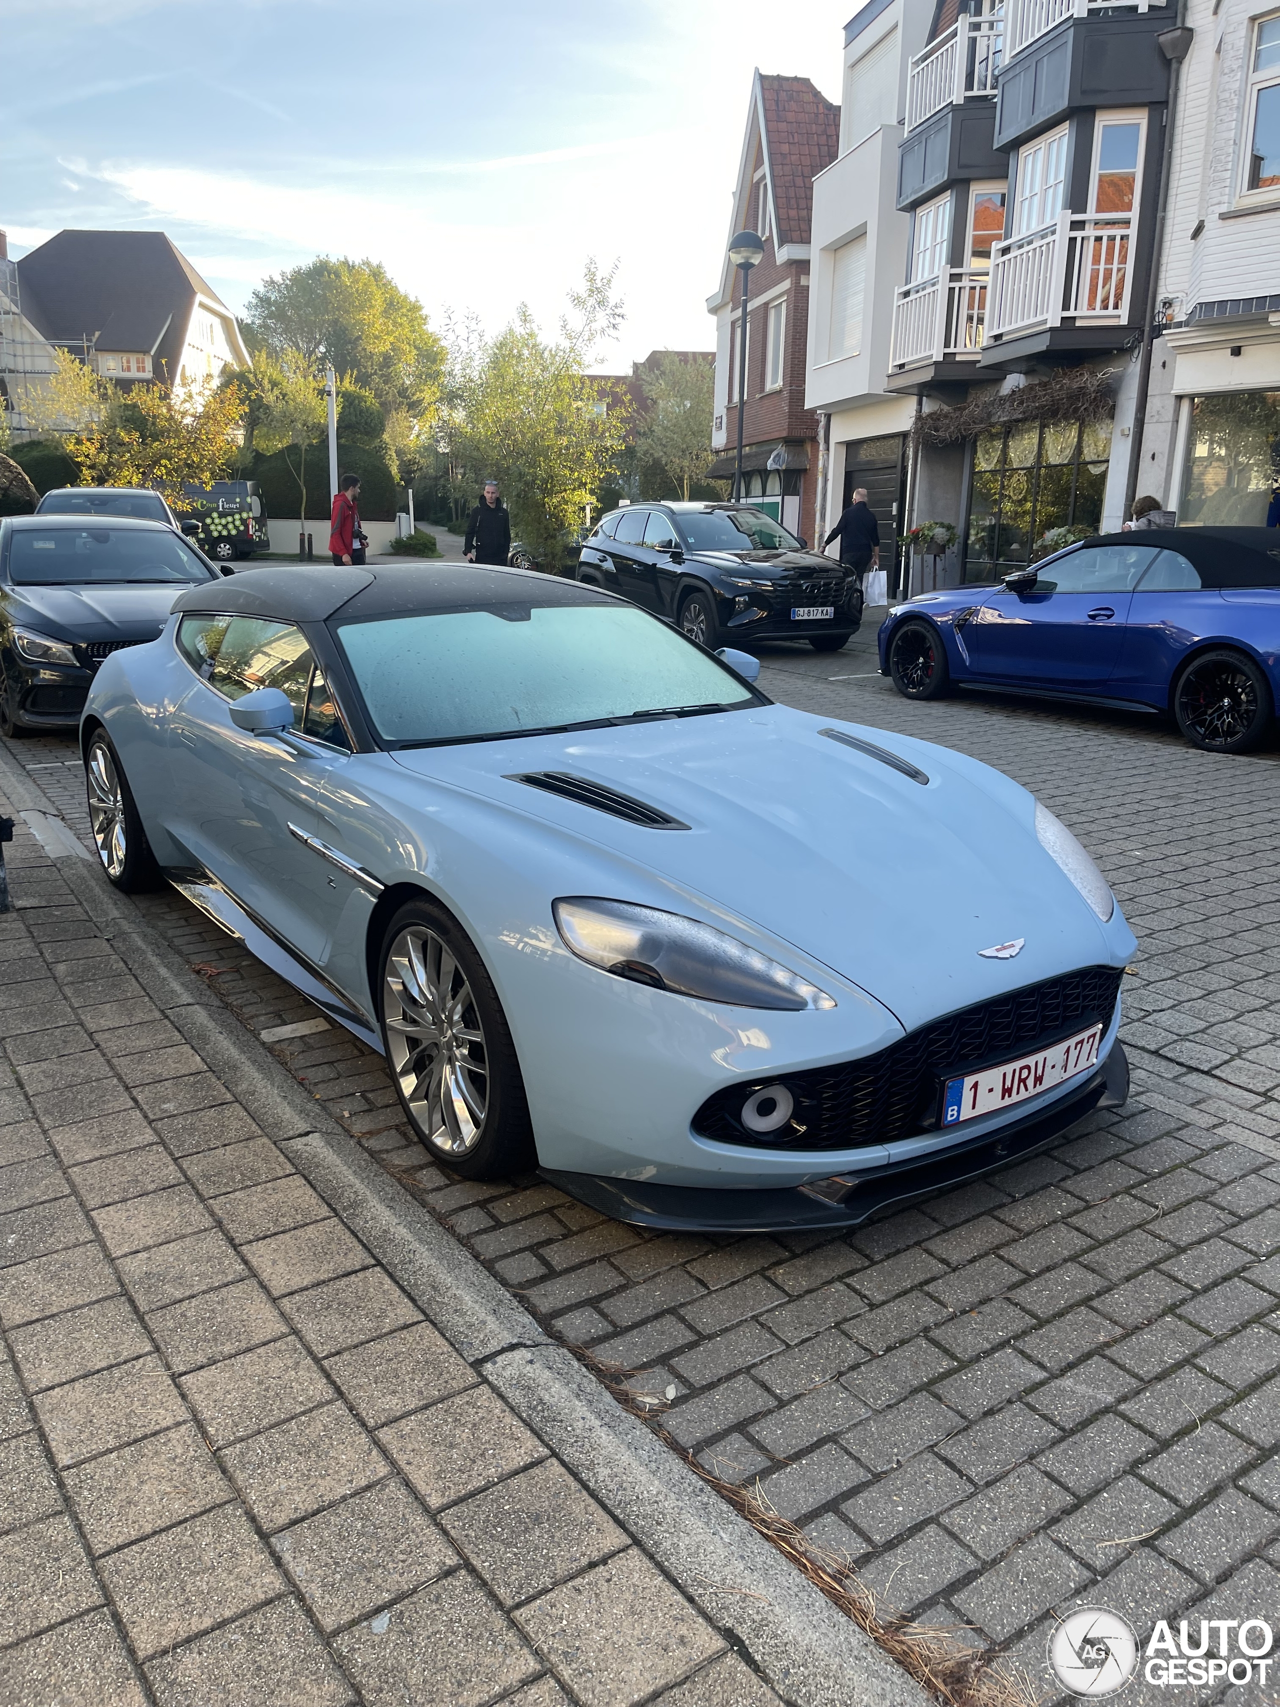
<instances>
[{"instance_id":1,"label":"black roof of the light blue sports car","mask_svg":"<svg viewBox=\"0 0 1280 1707\"><path fill-rule=\"evenodd\" d=\"M379 563L375 568L246 568L225 580L191 587L174 601L172 609L323 623L338 615L346 621L427 611L483 611L512 604L611 603L611 596L597 587L558 580L538 570L480 563Z\"/></svg>"}]
</instances>

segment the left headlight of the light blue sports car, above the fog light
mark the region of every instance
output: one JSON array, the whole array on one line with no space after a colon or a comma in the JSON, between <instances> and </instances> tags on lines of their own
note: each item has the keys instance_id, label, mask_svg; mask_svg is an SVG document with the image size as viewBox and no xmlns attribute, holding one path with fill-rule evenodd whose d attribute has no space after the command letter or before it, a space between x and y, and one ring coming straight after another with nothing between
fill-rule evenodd
<instances>
[{"instance_id":1,"label":"left headlight of the light blue sports car, above the fog light","mask_svg":"<svg viewBox=\"0 0 1280 1707\"><path fill-rule=\"evenodd\" d=\"M614 978L736 1007L836 1005L799 973L696 918L584 894L553 901L551 912L570 954Z\"/></svg>"}]
</instances>

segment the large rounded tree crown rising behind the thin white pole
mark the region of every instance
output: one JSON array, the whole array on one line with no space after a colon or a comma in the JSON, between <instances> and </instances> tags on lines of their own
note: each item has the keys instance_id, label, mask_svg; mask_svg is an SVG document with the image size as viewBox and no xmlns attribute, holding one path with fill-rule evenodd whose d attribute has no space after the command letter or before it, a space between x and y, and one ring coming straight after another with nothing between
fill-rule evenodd
<instances>
[{"instance_id":1,"label":"large rounded tree crown rising behind the thin white pole","mask_svg":"<svg viewBox=\"0 0 1280 1707\"><path fill-rule=\"evenodd\" d=\"M377 261L317 256L253 292L247 333L275 357L295 350L312 365L372 393L379 408L435 410L445 350L427 312Z\"/></svg>"}]
</instances>

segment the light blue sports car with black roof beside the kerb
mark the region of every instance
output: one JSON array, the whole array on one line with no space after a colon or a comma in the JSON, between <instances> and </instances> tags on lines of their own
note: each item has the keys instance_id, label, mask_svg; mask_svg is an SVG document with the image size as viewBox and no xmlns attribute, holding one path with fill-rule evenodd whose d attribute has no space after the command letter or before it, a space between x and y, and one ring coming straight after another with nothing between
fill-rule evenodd
<instances>
[{"instance_id":1,"label":"light blue sports car with black roof beside the kerb","mask_svg":"<svg viewBox=\"0 0 1280 1707\"><path fill-rule=\"evenodd\" d=\"M645 1226L855 1226L1123 1101L1070 831L756 671L548 575L249 570L99 671L97 848L382 1050L444 1166Z\"/></svg>"}]
</instances>

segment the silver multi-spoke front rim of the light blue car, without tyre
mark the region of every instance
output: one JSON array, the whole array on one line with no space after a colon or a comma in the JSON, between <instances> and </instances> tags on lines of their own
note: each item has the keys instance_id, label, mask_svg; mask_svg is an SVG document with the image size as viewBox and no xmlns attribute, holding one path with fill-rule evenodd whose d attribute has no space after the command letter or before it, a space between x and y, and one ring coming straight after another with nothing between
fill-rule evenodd
<instances>
[{"instance_id":1,"label":"silver multi-spoke front rim of the light blue car, without tyre","mask_svg":"<svg viewBox=\"0 0 1280 1707\"><path fill-rule=\"evenodd\" d=\"M391 944L382 1012L391 1069L418 1130L445 1156L466 1156L488 1111L485 1029L463 968L427 925L410 925Z\"/></svg>"}]
</instances>

